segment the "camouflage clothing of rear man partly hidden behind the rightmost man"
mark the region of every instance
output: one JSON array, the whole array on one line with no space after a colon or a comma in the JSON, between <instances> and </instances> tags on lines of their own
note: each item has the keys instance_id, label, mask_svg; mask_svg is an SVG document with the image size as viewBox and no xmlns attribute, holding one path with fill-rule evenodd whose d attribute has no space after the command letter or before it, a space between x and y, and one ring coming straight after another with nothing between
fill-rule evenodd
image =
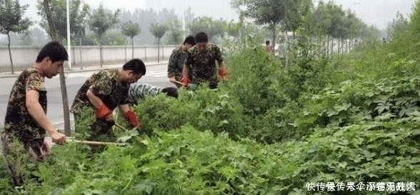
<instances>
[{"instance_id":1,"label":"camouflage clothing of rear man partly hidden behind the rightmost man","mask_svg":"<svg viewBox=\"0 0 420 195\"><path fill-rule=\"evenodd\" d=\"M184 62L186 59L186 52L182 51L182 46L178 49L172 51L171 56L169 57L168 64L168 78L175 76L176 81L181 81L182 78L182 69L184 68ZM191 67L190 67L191 68ZM192 79L192 72L190 71L189 79ZM181 87L181 84L175 84L178 88Z\"/></svg>"}]
</instances>

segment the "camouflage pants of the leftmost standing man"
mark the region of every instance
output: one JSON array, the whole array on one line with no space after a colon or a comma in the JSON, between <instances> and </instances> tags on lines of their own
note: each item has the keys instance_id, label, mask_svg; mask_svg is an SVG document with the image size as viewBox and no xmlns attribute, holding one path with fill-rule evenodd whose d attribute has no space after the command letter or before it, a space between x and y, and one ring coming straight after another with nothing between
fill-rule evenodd
<instances>
[{"instance_id":1,"label":"camouflage pants of the leftmost standing man","mask_svg":"<svg viewBox=\"0 0 420 195\"><path fill-rule=\"evenodd\" d=\"M23 159L23 157L26 158L23 154L28 154L29 161L35 162L36 164L45 161L46 154L42 148L43 142L44 140L41 139L18 141L10 134L6 134L6 132L1 134L3 154L11 174L12 184L14 186L22 186L24 184L24 180L21 175L21 167L23 165L22 162L27 160Z\"/></svg>"}]
</instances>

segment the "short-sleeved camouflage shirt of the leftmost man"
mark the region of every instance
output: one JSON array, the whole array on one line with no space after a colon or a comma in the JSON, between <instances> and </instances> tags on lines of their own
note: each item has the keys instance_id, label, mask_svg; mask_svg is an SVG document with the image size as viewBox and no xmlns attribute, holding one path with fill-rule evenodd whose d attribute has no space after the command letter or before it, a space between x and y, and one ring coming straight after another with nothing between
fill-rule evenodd
<instances>
[{"instance_id":1,"label":"short-sleeved camouflage shirt of the leftmost man","mask_svg":"<svg viewBox=\"0 0 420 195\"><path fill-rule=\"evenodd\" d=\"M39 91L39 104L46 114L44 76L41 76L37 69L31 68L22 71L15 81L4 119L4 131L22 141L44 139L46 134L45 129L39 126L26 107L26 91L31 89Z\"/></svg>"}]
</instances>

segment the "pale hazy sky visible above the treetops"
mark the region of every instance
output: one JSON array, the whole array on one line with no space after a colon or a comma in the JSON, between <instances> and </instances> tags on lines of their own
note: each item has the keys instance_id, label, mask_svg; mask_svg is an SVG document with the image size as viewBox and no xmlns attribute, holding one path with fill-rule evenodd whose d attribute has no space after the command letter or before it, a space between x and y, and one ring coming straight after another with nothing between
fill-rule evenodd
<instances>
[{"instance_id":1,"label":"pale hazy sky visible above the treetops","mask_svg":"<svg viewBox=\"0 0 420 195\"><path fill-rule=\"evenodd\" d=\"M319 1L319 0L314 0ZM328 1L328 0L324 0ZM411 8L416 0L333 0L336 4L341 4L343 9L351 9L356 16L366 24L374 25L379 29L384 29L386 24L395 18L399 11L404 16L411 14ZM39 21L36 14L35 0L20 0L21 4L28 4L26 16ZM226 20L235 19L237 14L230 9L230 0L84 0L93 9L96 9L102 2L107 9L134 9L152 8L155 11L174 7L176 14L181 16L184 8L191 6L191 11L195 16L211 16L215 19L224 18Z\"/></svg>"}]
</instances>

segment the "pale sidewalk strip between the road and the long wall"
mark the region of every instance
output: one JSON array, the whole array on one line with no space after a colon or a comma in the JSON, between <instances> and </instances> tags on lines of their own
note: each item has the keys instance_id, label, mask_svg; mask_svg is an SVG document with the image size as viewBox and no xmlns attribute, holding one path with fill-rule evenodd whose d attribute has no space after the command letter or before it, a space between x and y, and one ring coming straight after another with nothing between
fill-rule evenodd
<instances>
[{"instance_id":1,"label":"pale sidewalk strip between the road and the long wall","mask_svg":"<svg viewBox=\"0 0 420 195\"><path fill-rule=\"evenodd\" d=\"M144 64L146 65L146 69L148 66L158 66L158 65L167 65L168 61L145 61ZM71 73L78 73L78 72L85 72L85 71L99 71L102 69L113 69L113 68L120 68L124 65L124 63L121 64L104 64L101 66L84 66L83 69L80 69L80 67L71 67L71 70L69 70L69 67L64 68L64 74L71 74ZM4 78L17 78L19 74L21 74L22 71L14 71L14 74L11 74L11 71L7 72L0 72L0 79ZM57 75L58 76L58 75Z\"/></svg>"}]
</instances>

